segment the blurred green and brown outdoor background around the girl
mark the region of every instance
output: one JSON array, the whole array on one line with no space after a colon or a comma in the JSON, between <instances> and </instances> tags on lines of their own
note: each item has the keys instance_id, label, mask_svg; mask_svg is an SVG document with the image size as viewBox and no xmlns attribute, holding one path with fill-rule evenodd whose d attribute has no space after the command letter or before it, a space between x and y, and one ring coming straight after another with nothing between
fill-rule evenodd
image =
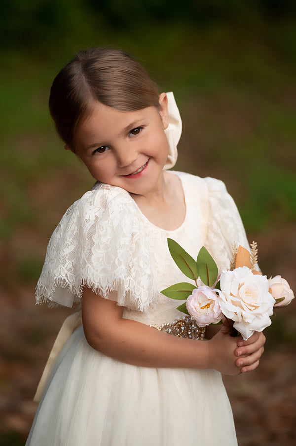
<instances>
[{"instance_id":1,"label":"blurred green and brown outdoor background around the girl","mask_svg":"<svg viewBox=\"0 0 296 446\"><path fill-rule=\"evenodd\" d=\"M10 0L0 14L0 446L24 445L38 380L73 309L34 305L49 237L93 183L47 101L79 49L130 51L174 91L177 170L225 181L267 276L296 290L296 3ZM240 446L295 445L296 302L275 312L259 368L225 377ZM213 420L215 423L215 421Z\"/></svg>"}]
</instances>

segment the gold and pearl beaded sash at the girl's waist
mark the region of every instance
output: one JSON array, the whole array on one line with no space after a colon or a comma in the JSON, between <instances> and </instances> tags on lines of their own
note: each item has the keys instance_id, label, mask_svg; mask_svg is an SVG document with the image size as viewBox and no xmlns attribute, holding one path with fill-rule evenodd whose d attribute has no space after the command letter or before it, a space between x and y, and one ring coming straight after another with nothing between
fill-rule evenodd
<instances>
[{"instance_id":1,"label":"gold and pearl beaded sash at the girl's waist","mask_svg":"<svg viewBox=\"0 0 296 446\"><path fill-rule=\"evenodd\" d=\"M199 339L202 340L205 337L205 327L201 328L197 325L196 321L191 316L181 317L175 319L174 322L164 323L160 326L151 324L150 327L156 328L158 331L164 331L165 333L173 336L179 336L180 338Z\"/></svg>"}]
</instances>

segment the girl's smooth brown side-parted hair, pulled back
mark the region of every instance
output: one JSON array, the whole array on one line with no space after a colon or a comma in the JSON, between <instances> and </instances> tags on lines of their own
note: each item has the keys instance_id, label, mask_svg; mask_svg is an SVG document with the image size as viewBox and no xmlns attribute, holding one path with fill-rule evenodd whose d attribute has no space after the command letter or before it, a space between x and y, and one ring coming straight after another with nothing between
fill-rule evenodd
<instances>
[{"instance_id":1,"label":"girl's smooth brown side-parted hair, pulled back","mask_svg":"<svg viewBox=\"0 0 296 446\"><path fill-rule=\"evenodd\" d=\"M49 110L61 139L74 150L75 131L94 101L119 111L159 108L157 85L131 55L108 48L77 53L53 81Z\"/></svg>"}]
</instances>

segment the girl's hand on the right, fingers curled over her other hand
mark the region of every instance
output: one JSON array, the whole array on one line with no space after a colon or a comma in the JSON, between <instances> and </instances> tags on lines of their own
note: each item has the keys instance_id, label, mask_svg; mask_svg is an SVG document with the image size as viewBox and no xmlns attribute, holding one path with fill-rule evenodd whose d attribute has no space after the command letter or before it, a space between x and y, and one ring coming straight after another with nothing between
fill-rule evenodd
<instances>
[{"instance_id":1,"label":"girl's hand on the right, fingers curled over her other hand","mask_svg":"<svg viewBox=\"0 0 296 446\"><path fill-rule=\"evenodd\" d=\"M241 367L241 372L251 372L259 366L260 357L264 352L266 338L262 332L256 331L247 341L240 336L237 340L237 348L234 353L239 358L236 365Z\"/></svg>"}]
</instances>

